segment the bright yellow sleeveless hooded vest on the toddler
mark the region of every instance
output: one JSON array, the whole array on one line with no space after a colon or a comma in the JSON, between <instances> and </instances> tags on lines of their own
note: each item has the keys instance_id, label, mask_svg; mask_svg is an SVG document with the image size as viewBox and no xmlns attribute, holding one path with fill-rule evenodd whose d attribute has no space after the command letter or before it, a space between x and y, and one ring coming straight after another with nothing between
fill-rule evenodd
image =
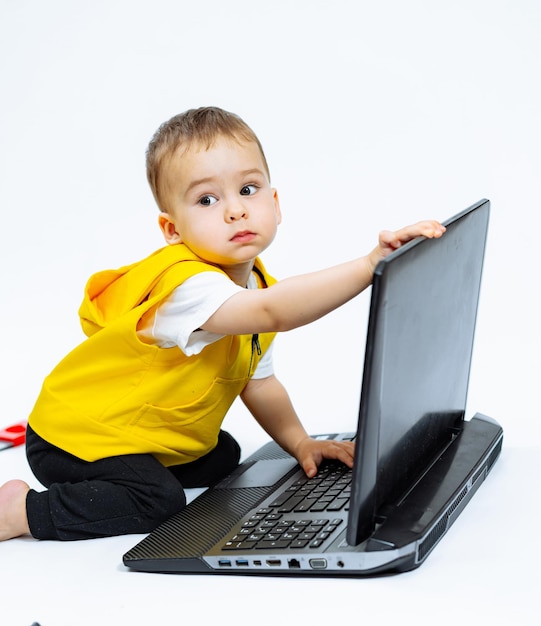
<instances>
[{"instance_id":1,"label":"bright yellow sleeveless hooded vest on the toddler","mask_svg":"<svg viewBox=\"0 0 541 626\"><path fill-rule=\"evenodd\" d=\"M259 259L255 269L261 287L276 282ZM141 342L141 317L202 271L222 272L177 244L91 277L79 310L88 339L45 379L31 427L85 461L148 453L177 465L210 452L274 333L228 335L189 357Z\"/></svg>"}]
</instances>

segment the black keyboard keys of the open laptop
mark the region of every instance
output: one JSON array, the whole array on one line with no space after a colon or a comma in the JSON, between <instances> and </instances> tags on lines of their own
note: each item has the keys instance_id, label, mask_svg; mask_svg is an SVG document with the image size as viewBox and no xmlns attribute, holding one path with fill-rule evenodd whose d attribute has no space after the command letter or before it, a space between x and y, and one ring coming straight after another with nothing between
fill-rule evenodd
<instances>
[{"instance_id":1,"label":"black keyboard keys of the open laptop","mask_svg":"<svg viewBox=\"0 0 541 626\"><path fill-rule=\"evenodd\" d=\"M270 504L256 511L223 549L319 548L343 523L333 513L348 510L350 486L351 469L328 463L316 476L299 478ZM295 517L295 513L303 513L302 518Z\"/></svg>"}]
</instances>

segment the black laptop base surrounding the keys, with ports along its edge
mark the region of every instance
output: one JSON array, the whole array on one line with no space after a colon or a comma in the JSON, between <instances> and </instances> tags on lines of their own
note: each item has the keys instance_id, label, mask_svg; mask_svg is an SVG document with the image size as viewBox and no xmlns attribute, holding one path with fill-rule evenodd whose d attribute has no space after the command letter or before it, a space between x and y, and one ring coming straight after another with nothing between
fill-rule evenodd
<instances>
[{"instance_id":1,"label":"black laptop base surrounding the keys, with ports along its edge","mask_svg":"<svg viewBox=\"0 0 541 626\"><path fill-rule=\"evenodd\" d=\"M178 574L358 577L415 569L482 484L499 456L502 440L501 427L489 417L478 413L463 422L461 432L430 470L400 502L378 515L374 532L357 546L345 541L344 522L336 538L321 549L224 550L224 536L265 507L276 490L276 484L255 485L250 475L258 472L250 473L250 468L260 461L284 459L281 485L293 480L299 470L286 452L270 442L134 546L123 562L138 571ZM242 484L247 486L238 486ZM342 515L347 520L347 513Z\"/></svg>"}]
</instances>

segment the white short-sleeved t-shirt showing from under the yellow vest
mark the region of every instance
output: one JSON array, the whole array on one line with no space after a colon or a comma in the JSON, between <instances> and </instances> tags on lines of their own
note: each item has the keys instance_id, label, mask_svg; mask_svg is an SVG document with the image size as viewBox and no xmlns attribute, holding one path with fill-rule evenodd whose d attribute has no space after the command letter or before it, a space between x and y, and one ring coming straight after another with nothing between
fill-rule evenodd
<instances>
[{"instance_id":1,"label":"white short-sleeved t-shirt showing from under the yellow vest","mask_svg":"<svg viewBox=\"0 0 541 626\"><path fill-rule=\"evenodd\" d=\"M258 288L253 273L246 287ZM178 346L187 356L199 354L205 346L224 336L201 330L201 325L242 289L219 272L201 272L191 276L162 302L154 316L143 320L137 334L141 341L160 348ZM271 343L259 361L253 378L266 378L274 373L272 346Z\"/></svg>"}]
</instances>

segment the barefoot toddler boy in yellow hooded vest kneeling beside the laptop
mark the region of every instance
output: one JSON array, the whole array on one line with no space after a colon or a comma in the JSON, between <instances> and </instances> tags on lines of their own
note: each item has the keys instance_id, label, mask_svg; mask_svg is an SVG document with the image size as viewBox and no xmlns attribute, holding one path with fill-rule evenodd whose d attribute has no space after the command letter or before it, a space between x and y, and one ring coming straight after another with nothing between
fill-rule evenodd
<instances>
[{"instance_id":1,"label":"barefoot toddler boy in yellow hooded vest kneeling beside the laptop","mask_svg":"<svg viewBox=\"0 0 541 626\"><path fill-rule=\"evenodd\" d=\"M353 464L353 444L311 439L273 373L277 332L308 324L371 282L380 259L444 228L380 233L367 256L276 282L259 255L281 220L262 147L236 115L190 110L163 124L147 175L167 245L89 280L88 338L45 379L27 457L37 492L0 488L0 539L73 540L152 531L239 462L221 430L237 396L308 476Z\"/></svg>"}]
</instances>

